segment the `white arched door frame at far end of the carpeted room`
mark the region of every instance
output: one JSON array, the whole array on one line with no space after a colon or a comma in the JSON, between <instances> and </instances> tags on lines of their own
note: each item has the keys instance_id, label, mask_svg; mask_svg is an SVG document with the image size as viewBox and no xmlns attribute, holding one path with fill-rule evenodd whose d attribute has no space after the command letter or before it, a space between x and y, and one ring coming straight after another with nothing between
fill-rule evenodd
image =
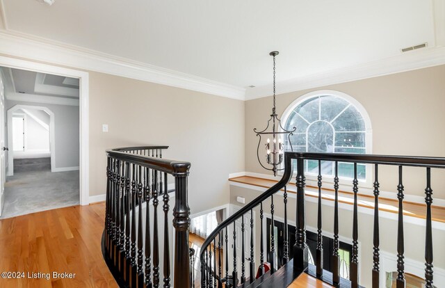
<instances>
[{"instance_id":1,"label":"white arched door frame at far end of the carpeted room","mask_svg":"<svg viewBox=\"0 0 445 288\"><path fill-rule=\"evenodd\" d=\"M33 106L17 104L8 109L8 176L14 175L14 143L13 143L13 114L19 109L42 110L49 114L49 150L51 152L51 172L56 170L56 137L54 136L54 113L46 106ZM26 134L25 134L26 136Z\"/></svg>"}]
</instances>

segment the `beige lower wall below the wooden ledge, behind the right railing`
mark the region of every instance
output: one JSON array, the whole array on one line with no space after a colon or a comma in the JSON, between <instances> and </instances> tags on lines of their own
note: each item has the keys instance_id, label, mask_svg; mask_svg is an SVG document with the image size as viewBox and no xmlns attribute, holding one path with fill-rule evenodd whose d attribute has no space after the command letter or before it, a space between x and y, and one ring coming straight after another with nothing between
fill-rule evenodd
<instances>
[{"instance_id":1,"label":"beige lower wall below the wooden ledge, behind the right railing","mask_svg":"<svg viewBox=\"0 0 445 288\"><path fill-rule=\"evenodd\" d=\"M241 196L245 198L245 202L251 202L254 198L261 193L257 190L246 189L238 186L230 187L231 195L230 202L232 205L239 206L238 202L236 202L236 197ZM288 219L295 223L296 215L295 215L295 207L296 200L295 198L288 198ZM243 206L243 205L241 205ZM263 209L265 214L270 214L270 198L263 202ZM363 208L365 209L365 208ZM260 234L259 227L260 218L259 218L259 207L254 209L255 211L255 264L259 265L259 243L260 243ZM279 195L275 195L274 197L274 211L275 216L280 218L284 218L284 204L283 197ZM306 201L306 225L310 227L317 227L317 204L314 202ZM323 233L330 232L334 233L334 207L330 207L327 205L323 205ZM405 217L406 218L406 217ZM266 217L264 218L266 221ZM405 219L406 221L406 219ZM358 218L358 227L359 227L359 281L360 285L364 287L371 287L371 271L373 269L373 215L359 213ZM394 255L394 259L396 259L397 255L397 221L380 217L380 250L390 253ZM247 232L250 233L250 228L247 229ZM312 232L316 232L316 230L312 230ZM346 239L350 240L352 243L352 232L353 232L353 211L349 211L346 209L339 209L339 235ZM412 259L416 262L420 262L423 264L425 262L425 227L421 225L415 225L411 223L404 224L404 232L405 232L405 258ZM386 237L385 237L386 236ZM445 269L445 246L442 243L445 243L445 231L444 230L432 230L432 237L434 245L434 269L440 268ZM291 244L292 245L292 244ZM264 247L266 247L266 243L264 243ZM417 249L418 248L418 249ZM266 249L266 248L265 248ZM266 259L266 257L264 258ZM382 264L382 263L381 263ZM410 271L407 271L410 272ZM412 271L411 271L412 272ZM422 277L423 275L418 275ZM439 284L435 282L435 285ZM439 287L439 286L437 286ZM442 286L440 286L442 287Z\"/></svg>"}]
</instances>

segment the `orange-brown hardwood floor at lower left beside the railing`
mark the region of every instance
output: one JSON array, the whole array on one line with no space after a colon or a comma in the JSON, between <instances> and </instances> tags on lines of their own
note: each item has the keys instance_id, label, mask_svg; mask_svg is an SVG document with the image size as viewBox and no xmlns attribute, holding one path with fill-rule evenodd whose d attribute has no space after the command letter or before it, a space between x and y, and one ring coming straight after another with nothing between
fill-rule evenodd
<instances>
[{"instance_id":1,"label":"orange-brown hardwood floor at lower left beside the railing","mask_svg":"<svg viewBox=\"0 0 445 288\"><path fill-rule=\"evenodd\" d=\"M118 287L102 257L104 214L102 202L0 220L0 272L24 273L0 287Z\"/></svg>"}]
</instances>

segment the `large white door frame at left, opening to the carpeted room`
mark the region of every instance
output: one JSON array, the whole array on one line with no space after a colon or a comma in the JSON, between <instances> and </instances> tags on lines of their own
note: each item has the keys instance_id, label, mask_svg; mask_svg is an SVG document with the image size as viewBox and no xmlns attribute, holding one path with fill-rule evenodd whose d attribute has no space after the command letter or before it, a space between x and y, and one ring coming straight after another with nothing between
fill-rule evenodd
<instances>
[{"instance_id":1,"label":"large white door frame at left, opening to the carpeted room","mask_svg":"<svg viewBox=\"0 0 445 288\"><path fill-rule=\"evenodd\" d=\"M80 173L80 204L88 205L89 191L88 191L88 179L89 179L89 163L88 163L88 72L68 69L64 67L58 67L43 63L37 63L32 61L26 61L17 58L10 58L6 56L0 56L0 66L11 67L22 70L31 70L34 72L57 74L65 77L72 77L79 79L79 134L80 134L80 159L79 159L79 173ZM12 148L12 147L11 147ZM9 155L8 155L9 158ZM51 163L52 168L52 163Z\"/></svg>"}]
</instances>

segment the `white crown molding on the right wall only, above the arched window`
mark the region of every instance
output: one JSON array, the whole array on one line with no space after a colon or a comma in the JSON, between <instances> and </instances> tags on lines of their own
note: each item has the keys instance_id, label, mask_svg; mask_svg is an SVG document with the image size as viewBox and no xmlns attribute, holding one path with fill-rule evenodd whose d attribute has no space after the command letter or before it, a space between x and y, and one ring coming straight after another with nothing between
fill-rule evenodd
<instances>
[{"instance_id":1,"label":"white crown molding on the right wall only, above the arched window","mask_svg":"<svg viewBox=\"0 0 445 288\"><path fill-rule=\"evenodd\" d=\"M327 85L357 81L388 74L396 74L410 70L445 64L445 47L414 50L385 58L379 61L353 65L323 73L277 81L277 94L290 93ZM271 94L271 86L258 86L246 90L245 100L267 97Z\"/></svg>"}]
</instances>

